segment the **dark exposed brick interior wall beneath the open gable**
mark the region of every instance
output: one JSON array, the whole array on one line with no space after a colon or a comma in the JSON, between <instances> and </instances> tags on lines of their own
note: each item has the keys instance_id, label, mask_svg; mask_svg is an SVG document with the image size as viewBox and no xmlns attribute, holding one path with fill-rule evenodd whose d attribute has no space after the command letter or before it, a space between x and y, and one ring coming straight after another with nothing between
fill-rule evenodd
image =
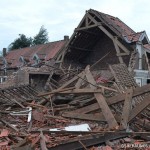
<instances>
[{"instance_id":1,"label":"dark exposed brick interior wall beneath the open gable","mask_svg":"<svg viewBox=\"0 0 150 150\"><path fill-rule=\"evenodd\" d=\"M65 65L67 64L69 66L71 64L74 68L85 68L87 65L93 65L96 63L107 53L109 54L103 58L98 65L96 65L96 69L107 69L109 64L119 63L114 44L107 35L102 31L99 31L99 36L95 41L96 43L90 48L90 51L82 51L81 53L78 49L69 49L64 58ZM80 44L76 45L76 47L80 47ZM122 58L124 63L128 66L130 55L123 56Z\"/></svg>"}]
</instances>

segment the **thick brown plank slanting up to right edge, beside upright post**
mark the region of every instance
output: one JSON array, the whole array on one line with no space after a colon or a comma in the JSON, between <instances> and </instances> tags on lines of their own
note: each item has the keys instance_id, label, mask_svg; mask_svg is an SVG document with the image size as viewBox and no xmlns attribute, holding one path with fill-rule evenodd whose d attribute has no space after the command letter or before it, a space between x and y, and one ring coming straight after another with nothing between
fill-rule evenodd
<instances>
[{"instance_id":1,"label":"thick brown plank slanting up to right edge, beside upright post","mask_svg":"<svg viewBox=\"0 0 150 150\"><path fill-rule=\"evenodd\" d=\"M136 105L130 112L129 120L130 122L134 119L137 115L139 115L146 107L150 105L150 98L149 95L146 96L138 105Z\"/></svg>"}]
</instances>

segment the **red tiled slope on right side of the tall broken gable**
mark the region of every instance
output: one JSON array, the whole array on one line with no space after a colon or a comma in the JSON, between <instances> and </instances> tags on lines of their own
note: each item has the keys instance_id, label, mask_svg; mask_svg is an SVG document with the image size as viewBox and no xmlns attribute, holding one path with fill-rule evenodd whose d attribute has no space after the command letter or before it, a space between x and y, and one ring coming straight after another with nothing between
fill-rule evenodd
<instances>
[{"instance_id":1,"label":"red tiled slope on right side of the tall broken gable","mask_svg":"<svg viewBox=\"0 0 150 150\"><path fill-rule=\"evenodd\" d=\"M93 9L90 9L88 12L96 15L106 26L113 30L122 39L126 37L130 42L137 42L143 33L143 31L136 33L117 17L113 17Z\"/></svg>"}]
</instances>

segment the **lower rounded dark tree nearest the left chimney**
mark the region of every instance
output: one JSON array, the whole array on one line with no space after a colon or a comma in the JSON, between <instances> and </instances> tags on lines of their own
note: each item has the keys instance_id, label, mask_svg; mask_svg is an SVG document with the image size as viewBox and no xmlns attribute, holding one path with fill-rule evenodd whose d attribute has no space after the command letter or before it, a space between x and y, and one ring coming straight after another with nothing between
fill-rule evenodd
<instances>
[{"instance_id":1,"label":"lower rounded dark tree nearest the left chimney","mask_svg":"<svg viewBox=\"0 0 150 150\"><path fill-rule=\"evenodd\" d=\"M14 50L14 49L20 49L24 47L29 47L32 45L32 38L27 38L24 34L19 34L19 38L15 39L14 42L12 42L8 46L8 50Z\"/></svg>"}]
</instances>

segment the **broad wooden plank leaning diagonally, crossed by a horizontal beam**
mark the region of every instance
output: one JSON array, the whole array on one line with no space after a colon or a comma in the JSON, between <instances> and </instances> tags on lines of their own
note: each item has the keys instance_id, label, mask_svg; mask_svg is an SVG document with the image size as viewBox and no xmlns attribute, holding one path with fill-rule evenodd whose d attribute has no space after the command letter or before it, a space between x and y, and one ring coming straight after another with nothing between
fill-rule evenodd
<instances>
[{"instance_id":1,"label":"broad wooden plank leaning diagonally, crossed by a horizontal beam","mask_svg":"<svg viewBox=\"0 0 150 150\"><path fill-rule=\"evenodd\" d=\"M90 72L90 66L87 66L85 68L85 73L86 73L86 78L87 78L88 82L91 83L90 84L91 89L97 89L96 81L94 80L93 75ZM112 129L112 128L118 127L118 123L117 123L114 115L112 114L108 104L106 103L104 96L100 93L95 93L94 96L99 104L99 107L102 110L102 113L109 125L109 128Z\"/></svg>"}]
</instances>

